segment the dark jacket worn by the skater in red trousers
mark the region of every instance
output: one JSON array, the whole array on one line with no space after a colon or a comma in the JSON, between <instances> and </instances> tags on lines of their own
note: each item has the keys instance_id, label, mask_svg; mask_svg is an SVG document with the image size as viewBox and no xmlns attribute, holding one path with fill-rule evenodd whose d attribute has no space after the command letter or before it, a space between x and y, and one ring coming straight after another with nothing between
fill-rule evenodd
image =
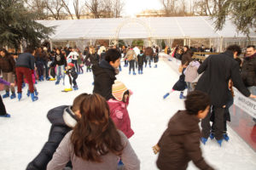
<instances>
[{"instance_id":1,"label":"dark jacket worn by the skater in red trousers","mask_svg":"<svg viewBox=\"0 0 256 170\"><path fill-rule=\"evenodd\" d=\"M16 61L16 67L26 67L34 70L34 65L35 58L32 56L32 54L29 53L20 54Z\"/></svg>"}]
</instances>

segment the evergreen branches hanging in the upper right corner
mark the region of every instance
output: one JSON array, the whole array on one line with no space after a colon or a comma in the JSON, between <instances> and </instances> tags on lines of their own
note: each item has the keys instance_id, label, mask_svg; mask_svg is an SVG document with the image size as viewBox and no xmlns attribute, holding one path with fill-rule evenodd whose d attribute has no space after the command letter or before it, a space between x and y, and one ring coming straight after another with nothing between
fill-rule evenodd
<instances>
[{"instance_id":1,"label":"evergreen branches hanging in the upper right corner","mask_svg":"<svg viewBox=\"0 0 256 170\"><path fill-rule=\"evenodd\" d=\"M222 30L227 16L231 17L237 31L249 34L250 29L256 28L256 0L218 0L218 10L212 14L217 19L215 28Z\"/></svg>"}]
</instances>

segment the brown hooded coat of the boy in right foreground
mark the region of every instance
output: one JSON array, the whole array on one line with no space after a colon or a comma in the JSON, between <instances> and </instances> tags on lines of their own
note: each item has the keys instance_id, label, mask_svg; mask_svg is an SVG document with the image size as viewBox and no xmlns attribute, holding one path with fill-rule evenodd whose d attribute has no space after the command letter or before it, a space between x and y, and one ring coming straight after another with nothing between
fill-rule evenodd
<instances>
[{"instance_id":1,"label":"brown hooded coat of the boy in right foreground","mask_svg":"<svg viewBox=\"0 0 256 170\"><path fill-rule=\"evenodd\" d=\"M212 169L201 154L199 122L199 118L187 111L177 111L172 116L158 143L160 153L156 164L160 170L185 170L189 161L200 169Z\"/></svg>"}]
</instances>

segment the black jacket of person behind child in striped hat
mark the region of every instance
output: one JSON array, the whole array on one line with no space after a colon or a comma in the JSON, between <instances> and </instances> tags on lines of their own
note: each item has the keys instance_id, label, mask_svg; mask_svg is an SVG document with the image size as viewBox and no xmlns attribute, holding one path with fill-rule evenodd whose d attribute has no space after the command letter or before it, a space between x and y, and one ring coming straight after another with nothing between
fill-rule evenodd
<instances>
[{"instance_id":1,"label":"black jacket of person behind child in striped hat","mask_svg":"<svg viewBox=\"0 0 256 170\"><path fill-rule=\"evenodd\" d=\"M113 66L103 59L100 65L92 65L92 72L95 77L93 93L101 94L107 100L113 98L112 85L116 79Z\"/></svg>"}]
</instances>

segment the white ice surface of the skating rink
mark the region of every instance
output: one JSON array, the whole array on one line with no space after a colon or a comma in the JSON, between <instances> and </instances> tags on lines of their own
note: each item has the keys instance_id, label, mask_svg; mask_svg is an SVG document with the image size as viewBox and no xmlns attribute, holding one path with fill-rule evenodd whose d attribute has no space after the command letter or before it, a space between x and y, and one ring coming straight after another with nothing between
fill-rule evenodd
<instances>
[{"instance_id":1,"label":"white ice surface of the skating rink","mask_svg":"<svg viewBox=\"0 0 256 170\"><path fill-rule=\"evenodd\" d=\"M157 169L157 156L152 146L158 142L165 131L167 122L177 110L183 110L183 100L179 93L172 93L167 99L163 95L171 90L178 79L177 65L174 61L160 60L158 68L144 68L143 75L129 75L128 68L123 67L117 78L133 91L130 105L131 127L135 135L131 137L131 145L141 161L141 169ZM29 161L38 155L48 139L50 124L47 112L59 105L72 105L73 99L81 93L91 93L93 86L92 73L79 75L79 90L62 93L62 85L55 82L39 82L37 84L39 99L32 102L26 97L3 99L11 118L0 118L0 169L22 170ZM1 92L3 95L3 92ZM256 169L256 154L230 128L230 141L224 142L220 148L215 140L201 145L206 160L216 169ZM190 169L197 169L193 163Z\"/></svg>"}]
</instances>

